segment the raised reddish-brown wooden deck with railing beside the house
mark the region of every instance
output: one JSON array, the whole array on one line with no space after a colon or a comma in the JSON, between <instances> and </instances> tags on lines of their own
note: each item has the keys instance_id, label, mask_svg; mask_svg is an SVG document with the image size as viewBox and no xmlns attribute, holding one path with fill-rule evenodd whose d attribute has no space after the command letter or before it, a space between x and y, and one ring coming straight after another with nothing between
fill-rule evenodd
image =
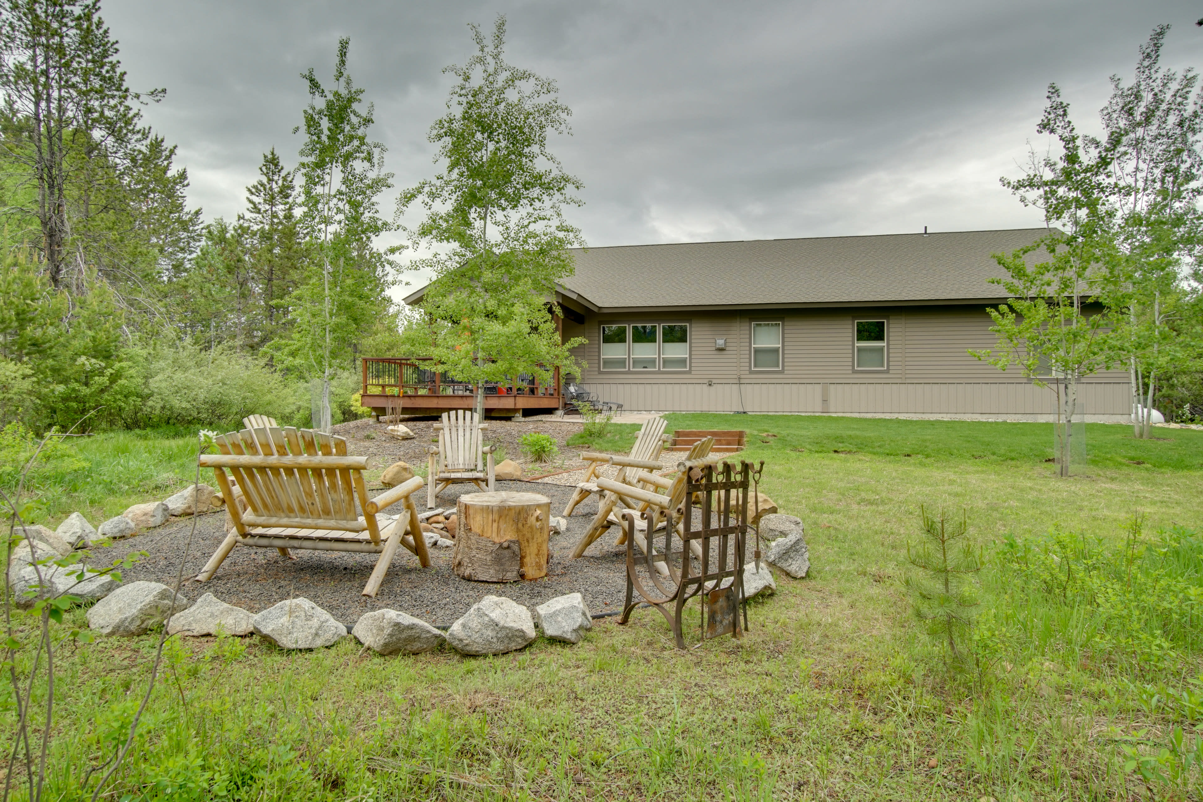
<instances>
[{"instance_id":1,"label":"raised reddish-brown wooden deck with railing beside the house","mask_svg":"<svg viewBox=\"0 0 1203 802\"><path fill-rule=\"evenodd\" d=\"M474 385L427 369L426 360L365 358L360 405L377 415L442 415L452 409L472 409ZM563 409L559 370L555 385L537 381L490 382L485 386L485 414L510 417L520 410Z\"/></svg>"}]
</instances>

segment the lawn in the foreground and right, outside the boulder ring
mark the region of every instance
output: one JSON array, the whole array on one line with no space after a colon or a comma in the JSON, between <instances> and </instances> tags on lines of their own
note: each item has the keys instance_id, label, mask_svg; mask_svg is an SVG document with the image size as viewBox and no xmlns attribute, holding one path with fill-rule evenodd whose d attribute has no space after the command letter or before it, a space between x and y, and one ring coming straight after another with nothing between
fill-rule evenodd
<instances>
[{"instance_id":1,"label":"lawn in the foreground and right, outside the boulder ring","mask_svg":"<svg viewBox=\"0 0 1203 802\"><path fill-rule=\"evenodd\" d=\"M1125 751L1154 766L1175 726L1192 737L1199 719L1163 702L1196 688L1199 654L1157 667L1084 650L1091 611L1024 584L996 549L1054 527L1118 548L1140 511L1137 540L1152 554L1157 528L1203 519L1203 432L1134 441L1126 427L1090 426L1089 475L1057 480L1043 462L1048 424L669 420L746 428L742 457L766 463L761 491L806 524L811 575L754 601L746 638L678 653L658 613L640 610L627 626L598 622L579 646L537 641L496 658L189 640L168 650L113 798L1199 796L1197 768L1146 780ZM982 675L952 671L909 614L901 578L920 504L966 509L994 556L978 577L983 636L1013 629ZM691 604L694 625L695 614ZM32 622L19 622L30 637ZM64 634L82 623L70 613ZM60 649L55 798L76 798L85 765L111 751L153 644ZM30 659L19 653L18 669Z\"/></svg>"}]
</instances>

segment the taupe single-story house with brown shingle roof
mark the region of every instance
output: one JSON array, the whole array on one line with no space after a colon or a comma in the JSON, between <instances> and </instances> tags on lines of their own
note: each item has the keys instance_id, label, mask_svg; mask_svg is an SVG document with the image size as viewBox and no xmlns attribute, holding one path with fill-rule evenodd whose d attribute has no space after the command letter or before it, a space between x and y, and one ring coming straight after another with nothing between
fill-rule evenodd
<instances>
[{"instance_id":1,"label":"taupe single-story house with brown shingle roof","mask_svg":"<svg viewBox=\"0 0 1203 802\"><path fill-rule=\"evenodd\" d=\"M624 411L1049 420L1050 390L968 352L997 341L986 308L1006 295L989 283L1002 275L991 254L1043 233L574 250L576 272L557 291L563 335L588 340L577 381ZM1128 381L1088 378L1086 418L1127 420Z\"/></svg>"}]
</instances>

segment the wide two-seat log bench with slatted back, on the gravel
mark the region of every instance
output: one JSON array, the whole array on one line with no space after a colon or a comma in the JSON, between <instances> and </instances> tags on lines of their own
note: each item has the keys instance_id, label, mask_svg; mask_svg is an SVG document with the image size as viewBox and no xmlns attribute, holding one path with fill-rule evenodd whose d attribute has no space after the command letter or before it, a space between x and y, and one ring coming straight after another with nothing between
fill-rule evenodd
<instances>
[{"instance_id":1,"label":"wide two-seat log bench with slatted back, on the gravel","mask_svg":"<svg viewBox=\"0 0 1203 802\"><path fill-rule=\"evenodd\" d=\"M416 554L422 568L429 568L411 498L425 483L421 476L372 499L363 482L368 459L348 457L342 438L265 427L224 434L217 444L221 453L201 455L200 464L213 469L235 528L196 576L197 582L213 578L235 546L277 548L284 557L290 556L290 548L380 554L363 587L366 596L380 589L398 546ZM227 470L247 504L245 512L239 510ZM356 499L362 516L356 512ZM405 503L401 517L377 518L380 510L397 501Z\"/></svg>"}]
</instances>

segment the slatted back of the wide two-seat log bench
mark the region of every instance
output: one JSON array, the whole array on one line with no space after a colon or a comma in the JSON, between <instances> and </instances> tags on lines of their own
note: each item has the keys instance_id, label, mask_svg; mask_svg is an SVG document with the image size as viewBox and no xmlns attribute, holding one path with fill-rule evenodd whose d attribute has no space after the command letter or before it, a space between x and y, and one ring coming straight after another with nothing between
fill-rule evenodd
<instances>
[{"instance_id":1,"label":"slatted back of the wide two-seat log bench","mask_svg":"<svg viewBox=\"0 0 1203 802\"><path fill-rule=\"evenodd\" d=\"M262 427L217 438L225 455L345 456L346 441L325 432ZM220 469L219 469L220 470ZM357 521L350 468L230 468L251 513L265 518ZM360 473L360 471L356 471ZM360 499L362 504L367 499Z\"/></svg>"}]
</instances>

